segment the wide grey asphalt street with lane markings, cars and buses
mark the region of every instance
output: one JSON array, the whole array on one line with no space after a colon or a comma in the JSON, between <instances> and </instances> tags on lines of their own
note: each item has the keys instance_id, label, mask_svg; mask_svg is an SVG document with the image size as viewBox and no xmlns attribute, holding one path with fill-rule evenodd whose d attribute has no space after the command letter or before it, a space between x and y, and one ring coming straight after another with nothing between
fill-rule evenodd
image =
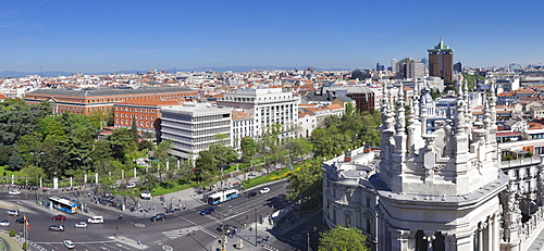
<instances>
[{"instance_id":1,"label":"wide grey asphalt street with lane markings, cars and buses","mask_svg":"<svg viewBox=\"0 0 544 251\"><path fill-rule=\"evenodd\" d=\"M26 215L30 224L28 237L36 244L34 246L35 250L66 250L62 244L65 239L75 242L75 250L215 250L219 248L222 235L221 231L217 230L221 223L238 228L238 233L232 239L228 238L227 250L233 250L233 244L238 239L244 240L244 250L305 249L306 238L304 236L306 235L304 234L308 226L302 224L301 229L289 228L282 231L283 228L272 229L274 225L269 221L270 214L287 204L283 199L286 192L285 186L286 181L280 181L267 185L265 187L270 188L268 193L258 193L251 198L246 198L245 193L240 194L237 199L214 205L214 214L199 215L202 209L210 205L197 204L195 208L168 214L165 221L158 222L150 221L150 217L163 212L159 211L159 198L153 198L149 202L150 204L159 204L154 212L129 213L99 204L89 204L89 213L78 212L72 215L36 205L34 191L30 193L23 191L20 196L10 196L4 188L0 190L0 200L2 201L0 206L4 210L20 209L20 217L23 214ZM259 189L252 190L258 192ZM47 194L40 193L40 197L44 198ZM51 219L57 214L65 215L66 219ZM120 214L124 215L124 221L118 219ZM94 215L103 216L104 223L89 224L87 228L74 227L75 223L86 222L88 217ZM23 229L23 224L16 224L16 218L5 215L1 219L9 219L11 225L2 228L14 229L18 235ZM256 218L259 222L257 233ZM260 224L261 219L262 224ZM49 231L48 227L53 224L64 225L65 231ZM250 227L251 230L249 230ZM267 235L271 237L270 240L256 246L256 239L260 242L260 238ZM138 240L140 240L139 244Z\"/></svg>"}]
</instances>

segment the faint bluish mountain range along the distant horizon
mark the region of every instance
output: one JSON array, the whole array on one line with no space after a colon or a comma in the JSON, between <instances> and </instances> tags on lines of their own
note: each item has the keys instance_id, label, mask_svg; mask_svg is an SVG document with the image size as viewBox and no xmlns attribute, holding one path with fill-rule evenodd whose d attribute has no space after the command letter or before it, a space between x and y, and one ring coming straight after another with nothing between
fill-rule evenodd
<instances>
[{"instance_id":1,"label":"faint bluish mountain range along the distant horizon","mask_svg":"<svg viewBox=\"0 0 544 251\"><path fill-rule=\"evenodd\" d=\"M165 71L168 73L173 73L175 72L250 72L250 71L275 71L275 70L306 70L311 66L273 66L273 65L265 65L265 66L199 66L199 67L194 67L194 68L157 68L157 71ZM348 68L317 68L313 67L316 71L351 71ZM132 70L132 71L118 71L118 72L94 72L94 73L83 73L86 75L106 75L106 74L136 74L136 73L147 73L149 70ZM0 77L24 77L27 75L38 75L38 76L44 76L44 77L52 77L52 76L71 76L72 74L75 74L78 72L17 72L17 71L3 71L0 72Z\"/></svg>"}]
</instances>

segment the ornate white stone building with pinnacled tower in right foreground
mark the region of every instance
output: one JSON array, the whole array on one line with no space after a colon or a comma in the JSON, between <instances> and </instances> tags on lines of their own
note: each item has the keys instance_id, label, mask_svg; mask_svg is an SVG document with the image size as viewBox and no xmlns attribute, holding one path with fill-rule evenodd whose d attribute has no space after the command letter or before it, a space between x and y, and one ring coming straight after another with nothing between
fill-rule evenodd
<instances>
[{"instance_id":1,"label":"ornate white stone building with pinnacled tower in right foreground","mask_svg":"<svg viewBox=\"0 0 544 251\"><path fill-rule=\"evenodd\" d=\"M531 244L544 227L544 168L537 168L535 200L503 173L494 95L474 122L469 97L459 91L454 114L435 121L432 133L424 103L405 117L404 99L394 105L384 97L379 167L353 154L324 163L329 226L359 227L383 251L537 248ZM413 100L408 105L419 106Z\"/></svg>"}]
</instances>

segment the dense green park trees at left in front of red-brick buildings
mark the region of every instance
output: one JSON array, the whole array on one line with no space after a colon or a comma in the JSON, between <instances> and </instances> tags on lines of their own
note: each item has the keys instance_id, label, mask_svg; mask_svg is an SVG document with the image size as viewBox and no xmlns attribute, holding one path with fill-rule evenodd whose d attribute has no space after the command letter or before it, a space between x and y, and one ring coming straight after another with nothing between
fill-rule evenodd
<instances>
[{"instance_id":1,"label":"dense green park trees at left in front of red-brick buildings","mask_svg":"<svg viewBox=\"0 0 544 251\"><path fill-rule=\"evenodd\" d=\"M156 165L172 161L171 143L139 142L136 125L114 129L97 140L102 127L109 126L110 116L99 112L55 115L48 102L27 104L8 99L0 103L0 165L23 171L29 177L51 178L83 176L84 172L129 172L136 167L134 160L150 152Z\"/></svg>"}]
</instances>

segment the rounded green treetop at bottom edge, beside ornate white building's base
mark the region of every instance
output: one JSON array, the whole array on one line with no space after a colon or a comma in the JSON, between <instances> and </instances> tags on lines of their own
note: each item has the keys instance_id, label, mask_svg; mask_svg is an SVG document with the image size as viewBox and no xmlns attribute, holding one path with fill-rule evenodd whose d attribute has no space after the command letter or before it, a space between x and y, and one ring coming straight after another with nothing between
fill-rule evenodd
<instances>
[{"instance_id":1,"label":"rounded green treetop at bottom edge, beside ornate white building's base","mask_svg":"<svg viewBox=\"0 0 544 251\"><path fill-rule=\"evenodd\" d=\"M337 225L333 229L321 234L319 239L319 251L367 251L367 236L356 227L343 227Z\"/></svg>"}]
</instances>

